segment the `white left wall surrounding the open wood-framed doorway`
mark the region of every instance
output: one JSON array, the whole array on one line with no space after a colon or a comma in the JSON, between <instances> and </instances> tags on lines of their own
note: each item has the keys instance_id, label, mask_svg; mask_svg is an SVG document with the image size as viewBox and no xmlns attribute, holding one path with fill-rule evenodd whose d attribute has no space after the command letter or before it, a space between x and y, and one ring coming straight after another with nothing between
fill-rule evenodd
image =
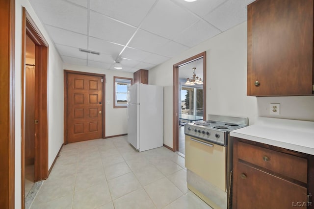
<instances>
[{"instance_id":1,"label":"white left wall surrounding the open wood-framed doorway","mask_svg":"<svg viewBox=\"0 0 314 209\"><path fill-rule=\"evenodd\" d=\"M48 111L49 168L63 143L63 69L62 60L28 0L15 1L15 208L21 205L21 61L22 7L25 7L49 44Z\"/></svg>"}]
</instances>

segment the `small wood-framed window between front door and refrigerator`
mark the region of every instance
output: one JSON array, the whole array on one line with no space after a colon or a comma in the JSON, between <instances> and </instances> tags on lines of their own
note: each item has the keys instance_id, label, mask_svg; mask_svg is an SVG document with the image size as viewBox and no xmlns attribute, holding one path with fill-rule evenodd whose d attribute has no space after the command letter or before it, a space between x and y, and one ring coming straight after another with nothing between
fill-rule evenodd
<instances>
[{"instance_id":1,"label":"small wood-framed window between front door and refrigerator","mask_svg":"<svg viewBox=\"0 0 314 209\"><path fill-rule=\"evenodd\" d=\"M113 77L113 108L127 107L128 88L132 83L132 78Z\"/></svg>"}]
</instances>

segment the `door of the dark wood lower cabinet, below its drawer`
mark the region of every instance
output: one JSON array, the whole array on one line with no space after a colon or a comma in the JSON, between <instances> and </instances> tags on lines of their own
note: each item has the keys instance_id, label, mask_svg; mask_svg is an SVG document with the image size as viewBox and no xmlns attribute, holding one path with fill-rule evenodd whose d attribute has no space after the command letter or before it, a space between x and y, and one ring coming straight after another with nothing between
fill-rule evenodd
<instances>
[{"instance_id":1,"label":"door of the dark wood lower cabinet, below its drawer","mask_svg":"<svg viewBox=\"0 0 314 209\"><path fill-rule=\"evenodd\" d=\"M307 204L307 188L237 163L237 209L294 209ZM305 207L306 208L306 207Z\"/></svg>"}]
</instances>

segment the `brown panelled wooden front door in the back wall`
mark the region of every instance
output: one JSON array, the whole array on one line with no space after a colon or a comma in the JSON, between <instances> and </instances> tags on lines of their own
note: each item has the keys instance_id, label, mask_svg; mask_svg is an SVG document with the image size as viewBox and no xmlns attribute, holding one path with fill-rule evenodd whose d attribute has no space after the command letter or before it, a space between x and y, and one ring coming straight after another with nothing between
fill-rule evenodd
<instances>
[{"instance_id":1,"label":"brown panelled wooden front door in the back wall","mask_svg":"<svg viewBox=\"0 0 314 209\"><path fill-rule=\"evenodd\" d=\"M67 73L66 141L103 138L104 75Z\"/></svg>"}]
</instances>

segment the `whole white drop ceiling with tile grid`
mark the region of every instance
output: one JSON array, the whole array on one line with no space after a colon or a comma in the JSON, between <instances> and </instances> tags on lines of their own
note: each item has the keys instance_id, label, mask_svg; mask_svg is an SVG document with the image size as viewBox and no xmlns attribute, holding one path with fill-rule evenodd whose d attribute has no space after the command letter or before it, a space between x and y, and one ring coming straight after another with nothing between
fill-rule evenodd
<instances>
[{"instance_id":1,"label":"whole white drop ceiling with tile grid","mask_svg":"<svg viewBox=\"0 0 314 209\"><path fill-rule=\"evenodd\" d=\"M30 0L63 62L149 70L247 20L254 0ZM79 51L100 52L100 55Z\"/></svg>"}]
</instances>

